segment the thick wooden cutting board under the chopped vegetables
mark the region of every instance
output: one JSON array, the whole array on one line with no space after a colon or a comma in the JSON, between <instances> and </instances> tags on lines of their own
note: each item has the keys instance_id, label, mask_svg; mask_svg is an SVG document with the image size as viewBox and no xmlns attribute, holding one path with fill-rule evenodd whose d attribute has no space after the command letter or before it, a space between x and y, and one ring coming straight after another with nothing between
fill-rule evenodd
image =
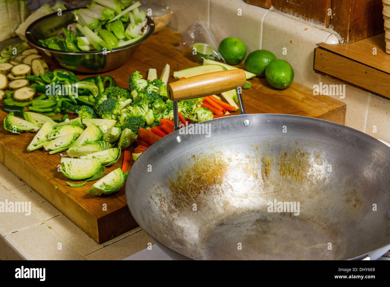
<instances>
[{"instance_id":1,"label":"thick wooden cutting board under the chopped vegetables","mask_svg":"<svg viewBox=\"0 0 390 287\"><path fill-rule=\"evenodd\" d=\"M129 76L136 70L146 76L149 68L156 68L160 75L168 63L172 75L173 71L197 66L192 61L191 51L176 49L179 39L179 33L164 29L142 43L123 66L101 75L111 75L119 87L128 87ZM46 55L45 59L50 70L60 68ZM89 76L78 75L79 78ZM171 76L169 81L174 80ZM313 96L311 89L296 83L279 91L271 88L265 79L255 78L250 82L253 83L252 87L243 90L248 113L297 114L344 124L346 105L338 100L328 96ZM0 110L1 125L5 116L7 114ZM26 148L34 135L30 132L13 135L0 128L0 161L98 243L137 226L127 207L124 187L117 194L100 197L88 192L94 182L87 182L82 187L70 187L66 183L67 178L58 171L60 155L49 155L43 149L27 152ZM105 175L121 167L122 157L116 164L106 168Z\"/></svg>"}]
</instances>

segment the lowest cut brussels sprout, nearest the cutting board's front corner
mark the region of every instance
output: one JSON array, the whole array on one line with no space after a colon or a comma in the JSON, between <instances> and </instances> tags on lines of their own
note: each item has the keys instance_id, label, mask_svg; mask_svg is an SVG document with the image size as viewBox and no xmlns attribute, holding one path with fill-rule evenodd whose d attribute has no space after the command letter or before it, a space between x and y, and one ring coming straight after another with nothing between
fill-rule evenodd
<instances>
[{"instance_id":1,"label":"lowest cut brussels sprout, nearest the cutting board's front corner","mask_svg":"<svg viewBox=\"0 0 390 287\"><path fill-rule=\"evenodd\" d=\"M101 178L89 189L89 192L94 195L112 194L121 189L126 178L122 169L117 168L111 171L108 175Z\"/></svg>"}]
</instances>

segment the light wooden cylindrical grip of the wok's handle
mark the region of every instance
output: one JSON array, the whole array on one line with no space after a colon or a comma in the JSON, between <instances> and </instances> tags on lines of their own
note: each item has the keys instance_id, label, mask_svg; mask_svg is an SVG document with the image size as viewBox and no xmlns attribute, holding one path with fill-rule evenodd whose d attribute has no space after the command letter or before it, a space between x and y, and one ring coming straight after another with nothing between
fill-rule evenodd
<instances>
[{"instance_id":1,"label":"light wooden cylindrical grip of the wok's handle","mask_svg":"<svg viewBox=\"0 0 390 287\"><path fill-rule=\"evenodd\" d=\"M244 86L244 70L227 70L202 74L168 84L170 100L188 100L219 94Z\"/></svg>"}]
</instances>

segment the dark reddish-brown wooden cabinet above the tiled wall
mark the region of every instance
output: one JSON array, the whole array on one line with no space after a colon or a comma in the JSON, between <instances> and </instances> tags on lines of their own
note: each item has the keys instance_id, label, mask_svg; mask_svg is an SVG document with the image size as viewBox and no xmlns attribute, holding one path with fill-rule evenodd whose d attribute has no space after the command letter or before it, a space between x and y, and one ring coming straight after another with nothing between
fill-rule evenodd
<instances>
[{"instance_id":1,"label":"dark reddish-brown wooden cabinet above the tiled wall","mask_svg":"<svg viewBox=\"0 0 390 287\"><path fill-rule=\"evenodd\" d=\"M345 43L383 32L381 0L245 0L248 4L275 9L332 27Z\"/></svg>"}]
</instances>

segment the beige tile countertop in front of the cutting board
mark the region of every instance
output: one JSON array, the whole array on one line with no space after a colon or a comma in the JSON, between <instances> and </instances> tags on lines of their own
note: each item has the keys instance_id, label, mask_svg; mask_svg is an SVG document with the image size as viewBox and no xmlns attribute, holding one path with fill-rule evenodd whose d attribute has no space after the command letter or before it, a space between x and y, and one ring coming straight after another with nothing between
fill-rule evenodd
<instances>
[{"instance_id":1,"label":"beige tile countertop in front of the cutting board","mask_svg":"<svg viewBox=\"0 0 390 287\"><path fill-rule=\"evenodd\" d=\"M29 202L31 212L1 212L0 260L122 260L154 244L139 226L96 243L0 163L0 204L5 202Z\"/></svg>"}]
</instances>

